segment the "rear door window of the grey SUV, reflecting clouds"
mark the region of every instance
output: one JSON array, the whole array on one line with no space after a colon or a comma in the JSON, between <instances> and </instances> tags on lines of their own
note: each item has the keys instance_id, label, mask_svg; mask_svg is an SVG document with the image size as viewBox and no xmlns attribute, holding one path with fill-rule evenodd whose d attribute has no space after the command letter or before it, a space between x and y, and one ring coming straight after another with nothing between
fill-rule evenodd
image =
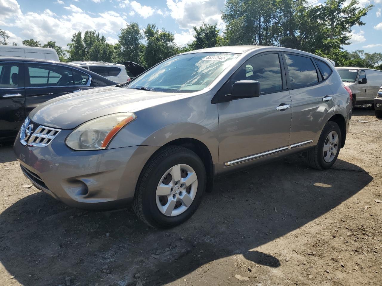
<instances>
[{"instance_id":1,"label":"rear door window of the grey SUV, reflecting clouds","mask_svg":"<svg viewBox=\"0 0 382 286\"><path fill-rule=\"evenodd\" d=\"M285 54L291 88L317 84L318 75L311 58Z\"/></svg>"}]
</instances>

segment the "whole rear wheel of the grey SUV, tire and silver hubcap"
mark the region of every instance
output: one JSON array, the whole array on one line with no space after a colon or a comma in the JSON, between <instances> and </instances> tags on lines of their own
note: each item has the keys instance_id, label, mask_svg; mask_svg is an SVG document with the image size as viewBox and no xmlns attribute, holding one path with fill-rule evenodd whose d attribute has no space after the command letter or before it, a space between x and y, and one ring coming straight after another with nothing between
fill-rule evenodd
<instances>
[{"instance_id":1,"label":"whole rear wheel of the grey SUV, tire and silver hubcap","mask_svg":"<svg viewBox=\"0 0 382 286\"><path fill-rule=\"evenodd\" d=\"M312 168L323 170L332 167L341 146L341 130L338 124L329 121L322 129L317 146L308 151L308 163Z\"/></svg>"}]
</instances>

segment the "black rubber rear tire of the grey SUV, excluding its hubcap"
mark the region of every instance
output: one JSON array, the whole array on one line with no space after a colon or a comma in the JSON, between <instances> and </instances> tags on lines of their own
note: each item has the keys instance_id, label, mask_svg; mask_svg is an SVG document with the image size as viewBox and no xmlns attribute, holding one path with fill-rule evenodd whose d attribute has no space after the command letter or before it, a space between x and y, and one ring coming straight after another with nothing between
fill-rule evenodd
<instances>
[{"instance_id":1,"label":"black rubber rear tire of the grey SUV, excluding its hubcap","mask_svg":"<svg viewBox=\"0 0 382 286\"><path fill-rule=\"evenodd\" d=\"M324 148L324 144L325 144L325 140L327 136L332 131L335 131L338 134L338 151L331 162L326 162L324 160L323 148ZM308 159L309 165L312 168L318 169L318 170L329 169L330 167L332 167L332 165L337 160L338 154L340 153L341 142L342 142L341 130L340 130L340 127L338 127L338 124L333 121L327 122L327 124L325 124L324 126L324 129L322 129L317 145L313 149L308 151L307 159Z\"/></svg>"}]
</instances>

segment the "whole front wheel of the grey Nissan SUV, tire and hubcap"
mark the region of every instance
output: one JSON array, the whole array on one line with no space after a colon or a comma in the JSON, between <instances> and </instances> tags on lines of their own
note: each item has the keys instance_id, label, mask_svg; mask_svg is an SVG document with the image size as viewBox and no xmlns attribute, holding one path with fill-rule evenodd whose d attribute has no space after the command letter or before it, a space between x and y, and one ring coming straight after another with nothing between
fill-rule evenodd
<instances>
[{"instance_id":1,"label":"whole front wheel of the grey Nissan SUV, tire and hubcap","mask_svg":"<svg viewBox=\"0 0 382 286\"><path fill-rule=\"evenodd\" d=\"M139 176L134 212L154 228L179 225L196 211L206 180L197 154L184 147L165 147L149 159Z\"/></svg>"}]
</instances>

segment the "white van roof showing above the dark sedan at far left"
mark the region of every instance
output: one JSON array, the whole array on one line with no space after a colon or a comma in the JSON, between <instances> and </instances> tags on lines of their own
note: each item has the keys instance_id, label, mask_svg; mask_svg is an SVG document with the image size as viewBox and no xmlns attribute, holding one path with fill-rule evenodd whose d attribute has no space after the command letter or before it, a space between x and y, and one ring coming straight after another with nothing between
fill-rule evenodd
<instances>
[{"instance_id":1,"label":"white van roof showing above the dark sedan at far left","mask_svg":"<svg viewBox=\"0 0 382 286\"><path fill-rule=\"evenodd\" d=\"M51 48L0 45L0 58L30 58L60 61L57 51Z\"/></svg>"}]
</instances>

